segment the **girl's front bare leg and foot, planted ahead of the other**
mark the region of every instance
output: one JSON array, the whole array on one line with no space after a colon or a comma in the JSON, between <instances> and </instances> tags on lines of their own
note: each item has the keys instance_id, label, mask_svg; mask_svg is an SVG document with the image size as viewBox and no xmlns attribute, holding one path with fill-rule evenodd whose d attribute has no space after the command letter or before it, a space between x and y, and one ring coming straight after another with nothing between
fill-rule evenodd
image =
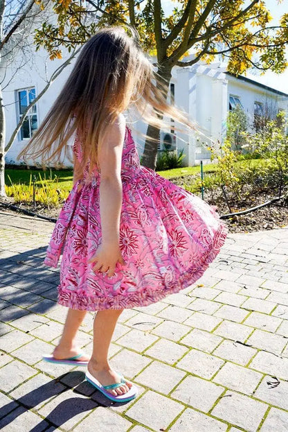
<instances>
[{"instance_id":1,"label":"girl's front bare leg and foot, planted ahead of the other","mask_svg":"<svg viewBox=\"0 0 288 432\"><path fill-rule=\"evenodd\" d=\"M89 372L95 377L102 386L110 386L119 383L119 375L110 368L108 361L109 345L111 338L122 310L109 309L98 311L93 325L93 352L88 363ZM116 390L108 390L112 395L123 395L132 383L127 381L123 386Z\"/></svg>"}]
</instances>

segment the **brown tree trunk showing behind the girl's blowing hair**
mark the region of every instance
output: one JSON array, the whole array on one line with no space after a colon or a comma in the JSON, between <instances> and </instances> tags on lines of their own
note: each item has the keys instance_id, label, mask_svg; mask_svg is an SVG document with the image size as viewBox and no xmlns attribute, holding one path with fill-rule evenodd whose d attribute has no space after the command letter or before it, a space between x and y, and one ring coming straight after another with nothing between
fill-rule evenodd
<instances>
[{"instance_id":1,"label":"brown tree trunk showing behind the girl's blowing hair","mask_svg":"<svg viewBox=\"0 0 288 432\"><path fill-rule=\"evenodd\" d=\"M156 87L160 87L160 84L165 85L165 98L168 96L169 84L171 79L172 67L161 67L159 65L156 80ZM144 152L142 156L142 164L147 168L156 169L157 162L157 148L160 139L160 130L155 126L148 125L147 127L147 138L145 141Z\"/></svg>"}]
</instances>

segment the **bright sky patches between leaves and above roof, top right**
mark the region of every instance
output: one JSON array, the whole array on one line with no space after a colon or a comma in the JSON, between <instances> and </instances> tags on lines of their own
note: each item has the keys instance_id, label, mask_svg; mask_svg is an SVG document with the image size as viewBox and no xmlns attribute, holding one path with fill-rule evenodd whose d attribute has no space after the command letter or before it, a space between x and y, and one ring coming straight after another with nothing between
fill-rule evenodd
<instances>
[{"instance_id":1,"label":"bright sky patches between leaves and above roof, top right","mask_svg":"<svg viewBox=\"0 0 288 432\"><path fill-rule=\"evenodd\" d=\"M175 6L174 1L171 0L163 0L163 8L167 11L172 10ZM245 3L250 3L250 1L246 1ZM269 23L269 25L277 25L279 22L279 18L285 13L288 12L288 0L283 0L279 3L278 0L266 0L265 1L269 12L273 17L273 21ZM287 48L287 59L288 59L288 48ZM256 74L256 75L255 75ZM283 74L275 74L271 71L265 72L264 75L260 76L260 71L251 71L247 72L247 77L252 78L253 80L257 80L262 84L269 85L269 87L273 87L275 89L280 90L281 92L288 93L288 68Z\"/></svg>"}]
</instances>

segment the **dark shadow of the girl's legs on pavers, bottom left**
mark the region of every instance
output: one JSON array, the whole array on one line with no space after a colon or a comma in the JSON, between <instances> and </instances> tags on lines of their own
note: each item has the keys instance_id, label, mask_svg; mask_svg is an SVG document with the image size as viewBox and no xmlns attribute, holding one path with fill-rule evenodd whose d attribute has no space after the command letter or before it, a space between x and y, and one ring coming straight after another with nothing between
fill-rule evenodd
<instances>
[{"instance_id":1,"label":"dark shadow of the girl's legs on pavers, bottom left","mask_svg":"<svg viewBox=\"0 0 288 432\"><path fill-rule=\"evenodd\" d=\"M105 395L102 395L101 392L94 390L90 383L84 381L84 372L72 371L49 381L43 386L28 392L18 399L14 399L0 408L1 428L12 423L19 415L30 410L30 408L35 408L52 397L62 395L67 392L67 390L71 390L71 388L73 388L72 391L75 393L75 397L69 397L69 395L67 395L67 399L60 401L60 403L46 415L42 422L39 422L30 432L43 431L47 427L47 422L52 424L52 426L59 427L71 420L75 415L83 413L84 411L90 411L97 406L109 408L111 406L123 406L128 404L128 402L115 403L110 401ZM77 397L77 394L82 397Z\"/></svg>"}]
</instances>

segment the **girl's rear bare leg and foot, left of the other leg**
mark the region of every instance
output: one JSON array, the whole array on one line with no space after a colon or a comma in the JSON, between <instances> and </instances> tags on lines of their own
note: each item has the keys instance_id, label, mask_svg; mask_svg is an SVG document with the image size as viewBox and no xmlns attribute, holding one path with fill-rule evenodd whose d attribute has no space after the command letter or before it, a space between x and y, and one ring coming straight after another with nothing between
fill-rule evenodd
<instances>
[{"instance_id":1,"label":"girl's rear bare leg and foot, left of the other leg","mask_svg":"<svg viewBox=\"0 0 288 432\"><path fill-rule=\"evenodd\" d=\"M53 351L55 358L69 358L79 354L80 349L75 344L75 336L86 313L87 311L77 309L68 310L60 342ZM89 356L82 356L78 360L89 360Z\"/></svg>"}]
</instances>

